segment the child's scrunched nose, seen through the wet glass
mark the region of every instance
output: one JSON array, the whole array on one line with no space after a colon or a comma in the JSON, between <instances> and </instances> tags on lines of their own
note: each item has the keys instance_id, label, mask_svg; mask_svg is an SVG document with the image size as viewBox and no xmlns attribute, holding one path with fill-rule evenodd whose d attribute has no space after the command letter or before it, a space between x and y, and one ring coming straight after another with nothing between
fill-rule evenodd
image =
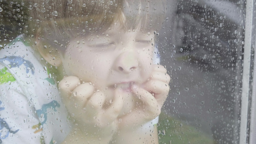
<instances>
[{"instance_id":1,"label":"child's scrunched nose, seen through the wet glass","mask_svg":"<svg viewBox=\"0 0 256 144\"><path fill-rule=\"evenodd\" d=\"M125 51L116 59L118 72L130 73L138 68L138 60L134 51Z\"/></svg>"}]
</instances>

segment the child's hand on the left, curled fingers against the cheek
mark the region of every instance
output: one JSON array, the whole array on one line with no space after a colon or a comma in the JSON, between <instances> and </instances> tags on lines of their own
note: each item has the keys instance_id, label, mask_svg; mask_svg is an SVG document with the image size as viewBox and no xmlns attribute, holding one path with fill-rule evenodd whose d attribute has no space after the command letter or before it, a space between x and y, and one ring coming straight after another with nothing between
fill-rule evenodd
<instances>
[{"instance_id":1,"label":"child's hand on the left, curled fingers against the cheek","mask_svg":"<svg viewBox=\"0 0 256 144\"><path fill-rule=\"evenodd\" d=\"M104 105L106 95L103 92L95 90L91 83L81 84L76 76L64 77L59 90L77 128L92 134L102 132L98 135L101 138L113 134L123 104L120 89L116 89L113 103L108 107Z\"/></svg>"}]
</instances>

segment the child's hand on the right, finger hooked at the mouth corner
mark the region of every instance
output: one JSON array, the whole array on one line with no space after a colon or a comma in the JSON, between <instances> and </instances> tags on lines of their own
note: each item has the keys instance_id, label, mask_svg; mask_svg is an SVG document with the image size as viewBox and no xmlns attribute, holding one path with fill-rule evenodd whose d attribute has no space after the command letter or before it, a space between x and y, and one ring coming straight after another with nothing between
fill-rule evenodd
<instances>
[{"instance_id":1,"label":"child's hand on the right, finger hooked at the mouth corner","mask_svg":"<svg viewBox=\"0 0 256 144\"><path fill-rule=\"evenodd\" d=\"M155 119L161 112L161 108L170 90L170 76L162 65L154 65L151 77L142 85L133 85L132 91L140 101L134 110L123 116L120 128L131 128Z\"/></svg>"}]
</instances>

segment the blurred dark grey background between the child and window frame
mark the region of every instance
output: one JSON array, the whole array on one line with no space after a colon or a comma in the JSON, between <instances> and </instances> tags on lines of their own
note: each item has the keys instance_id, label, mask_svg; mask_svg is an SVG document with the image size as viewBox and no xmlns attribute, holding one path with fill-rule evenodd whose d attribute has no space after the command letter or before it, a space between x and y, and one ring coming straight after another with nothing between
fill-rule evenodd
<instances>
[{"instance_id":1,"label":"blurred dark grey background between the child and window frame","mask_svg":"<svg viewBox=\"0 0 256 144\"><path fill-rule=\"evenodd\" d=\"M172 78L164 112L216 144L238 144L245 0L173 3L159 32L161 64Z\"/></svg>"}]
</instances>

